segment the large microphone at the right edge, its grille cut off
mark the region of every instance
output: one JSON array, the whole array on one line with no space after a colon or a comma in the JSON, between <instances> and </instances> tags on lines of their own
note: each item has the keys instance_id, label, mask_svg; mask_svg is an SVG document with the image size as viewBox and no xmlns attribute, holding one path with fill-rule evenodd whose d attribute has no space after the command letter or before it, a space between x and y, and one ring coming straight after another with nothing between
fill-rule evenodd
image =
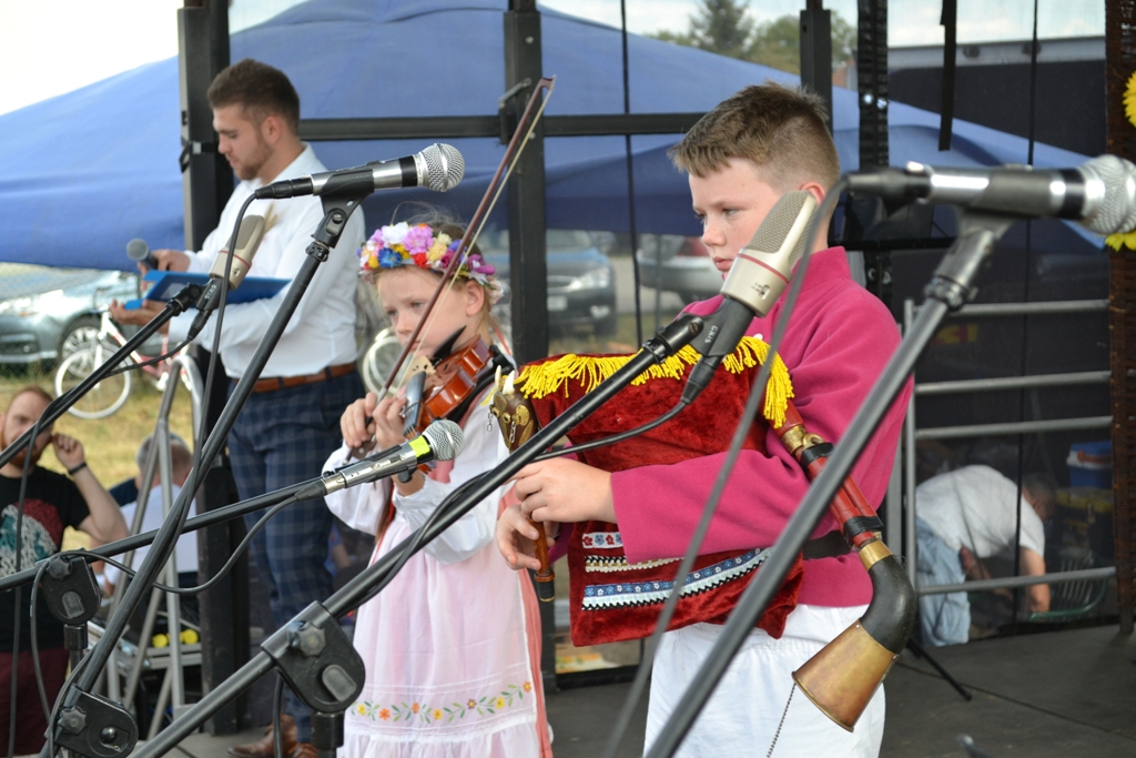
<instances>
[{"instance_id":1,"label":"large microphone at the right edge, its grille cut off","mask_svg":"<svg viewBox=\"0 0 1136 758\"><path fill-rule=\"evenodd\" d=\"M847 175L853 192L889 200L962 206L1024 217L1055 216L1078 222L1101 235L1136 228L1136 166L1100 156L1077 168L905 168Z\"/></svg>"}]
</instances>

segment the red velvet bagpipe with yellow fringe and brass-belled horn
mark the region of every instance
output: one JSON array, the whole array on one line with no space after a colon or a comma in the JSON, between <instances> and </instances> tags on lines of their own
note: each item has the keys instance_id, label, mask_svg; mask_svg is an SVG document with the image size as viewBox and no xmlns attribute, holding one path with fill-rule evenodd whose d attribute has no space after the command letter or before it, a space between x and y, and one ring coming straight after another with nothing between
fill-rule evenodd
<instances>
[{"instance_id":1,"label":"red velvet bagpipe with yellow fringe and brass-belled horn","mask_svg":"<svg viewBox=\"0 0 1136 758\"><path fill-rule=\"evenodd\" d=\"M700 356L683 348L651 367L569 434L573 445L637 428L671 409ZM630 356L563 355L527 364L516 376L498 380L491 413L498 417L510 449L526 442L541 426L562 414L580 397L626 365ZM741 417L749 388L769 347L744 338L727 356L703 391L683 414L641 435L576 453L596 468L619 472L645 465L666 465L722 452ZM768 431L800 463L812 480L824 468L833 445L808 431L793 405L793 385L779 356L772 356L769 381L743 447L767 452ZM691 424L690 418L698 418ZM796 607L803 561L846 555L854 550L872 583L872 599L863 617L825 647L793 677L826 715L851 730L902 651L914 620L914 593L895 556L880 539L883 524L855 482L849 477L829 510L840 532L811 540L797 556L757 626L779 638ZM832 538L836 538L835 540ZM544 581L551 581L546 551ZM768 548L700 555L683 582L668 630L695 623L724 624L760 569ZM568 538L569 617L576 645L641 639L652 632L659 611L678 577L680 558L628 563L619 527L607 522L576 524ZM551 584L549 584L551 586Z\"/></svg>"}]
</instances>

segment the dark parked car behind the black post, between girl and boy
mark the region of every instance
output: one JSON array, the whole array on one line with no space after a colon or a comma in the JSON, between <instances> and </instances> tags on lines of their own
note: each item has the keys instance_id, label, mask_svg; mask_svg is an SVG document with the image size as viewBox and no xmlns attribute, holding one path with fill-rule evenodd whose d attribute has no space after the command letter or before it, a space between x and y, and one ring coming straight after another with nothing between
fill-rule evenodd
<instances>
[{"instance_id":1,"label":"dark parked car behind the black post, between girl and boy","mask_svg":"<svg viewBox=\"0 0 1136 758\"><path fill-rule=\"evenodd\" d=\"M590 232L549 230L548 308L552 328L588 327L596 334L615 334L616 275L611 259L600 252ZM485 260L498 269L504 288L501 305L511 301L509 292L509 232L482 235L477 247Z\"/></svg>"}]
</instances>

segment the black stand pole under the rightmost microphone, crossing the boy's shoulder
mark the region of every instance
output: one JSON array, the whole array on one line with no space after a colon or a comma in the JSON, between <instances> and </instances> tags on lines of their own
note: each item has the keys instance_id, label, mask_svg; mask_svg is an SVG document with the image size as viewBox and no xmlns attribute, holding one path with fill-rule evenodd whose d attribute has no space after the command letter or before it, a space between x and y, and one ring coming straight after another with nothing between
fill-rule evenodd
<instances>
[{"instance_id":1,"label":"black stand pole under the rightmost microphone, crossing the boy's shoulder","mask_svg":"<svg viewBox=\"0 0 1136 758\"><path fill-rule=\"evenodd\" d=\"M920 307L911 331L904 335L900 348L849 424L844 436L836 444L835 453L828 459L828 465L813 480L804 500L785 525L766 564L742 594L718 642L675 706L670 720L659 732L646 758L673 756L682 744L734 655L777 592L809 535L827 511L828 503L914 369L916 361L934 338L943 318L947 311L958 310L974 299L974 282L989 264L995 242L1018 220L1021 217L974 211L961 214L959 236L925 289L927 299Z\"/></svg>"}]
</instances>

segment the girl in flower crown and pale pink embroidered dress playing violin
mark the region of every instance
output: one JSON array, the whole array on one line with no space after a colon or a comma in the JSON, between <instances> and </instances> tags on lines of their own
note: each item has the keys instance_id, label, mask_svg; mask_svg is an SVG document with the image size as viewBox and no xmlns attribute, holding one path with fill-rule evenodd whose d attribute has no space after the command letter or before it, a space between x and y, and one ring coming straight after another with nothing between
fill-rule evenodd
<instances>
[{"instance_id":1,"label":"girl in flower crown and pale pink embroidered dress playing violin","mask_svg":"<svg viewBox=\"0 0 1136 758\"><path fill-rule=\"evenodd\" d=\"M361 274L378 289L406 344L457 248L462 230L444 222L379 228L359 251ZM490 313L501 289L476 247L443 292L414 353L433 359L478 340L492 344ZM492 368L490 368L492 370ZM445 497L508 456L490 418L492 386L470 391L451 420L465 432L453 461L409 481L341 490L327 506L350 526L378 536L373 560L423 525ZM427 381L426 395L431 393ZM374 393L348 406L343 448L403 443L407 398ZM486 424L488 419L488 425ZM393 497L392 497L393 494ZM493 544L502 491L483 500L406 564L359 609L354 645L367 666L362 694L346 714L346 756L551 756L540 674L540 619L527 576L509 569Z\"/></svg>"}]
</instances>

